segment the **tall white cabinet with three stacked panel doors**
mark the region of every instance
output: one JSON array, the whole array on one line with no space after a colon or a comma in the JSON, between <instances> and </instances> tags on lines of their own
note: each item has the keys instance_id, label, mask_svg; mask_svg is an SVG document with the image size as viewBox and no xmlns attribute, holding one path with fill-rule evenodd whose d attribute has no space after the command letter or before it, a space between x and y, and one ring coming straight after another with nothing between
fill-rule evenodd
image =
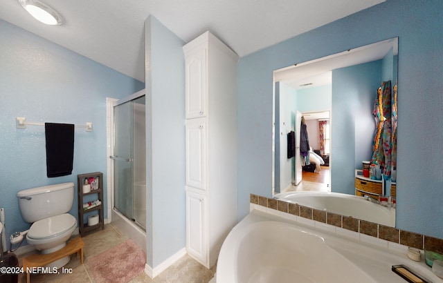
<instances>
[{"instance_id":1,"label":"tall white cabinet with three stacked panel doors","mask_svg":"<svg viewBox=\"0 0 443 283\"><path fill-rule=\"evenodd\" d=\"M186 249L210 268L237 223L238 56L210 32L186 61Z\"/></svg>"}]
</instances>

